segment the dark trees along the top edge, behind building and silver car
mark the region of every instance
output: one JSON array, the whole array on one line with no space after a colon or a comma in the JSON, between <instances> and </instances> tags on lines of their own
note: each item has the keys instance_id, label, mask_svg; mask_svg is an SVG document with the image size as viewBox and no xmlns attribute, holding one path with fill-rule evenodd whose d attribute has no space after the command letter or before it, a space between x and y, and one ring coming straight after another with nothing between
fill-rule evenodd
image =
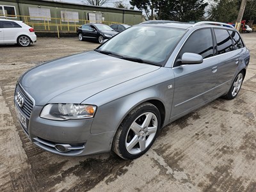
<instances>
[{"instance_id":1,"label":"dark trees along the top edge, behind building and silver car","mask_svg":"<svg viewBox=\"0 0 256 192\"><path fill-rule=\"evenodd\" d=\"M102 6L111 0L83 0L88 4ZM236 22L241 0L124 0L113 1L116 8L138 8L145 13L145 19L213 20ZM247 0L244 11L245 20L256 20L256 0Z\"/></svg>"}]
</instances>

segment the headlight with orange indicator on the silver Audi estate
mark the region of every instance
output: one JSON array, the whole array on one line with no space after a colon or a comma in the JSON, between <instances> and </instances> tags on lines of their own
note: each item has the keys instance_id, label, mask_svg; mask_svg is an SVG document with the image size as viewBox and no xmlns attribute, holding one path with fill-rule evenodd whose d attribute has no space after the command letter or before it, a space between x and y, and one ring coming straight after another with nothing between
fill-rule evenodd
<instances>
[{"instance_id":1,"label":"headlight with orange indicator on the silver Audi estate","mask_svg":"<svg viewBox=\"0 0 256 192\"><path fill-rule=\"evenodd\" d=\"M84 104L47 104L40 117L49 120L92 118L97 107Z\"/></svg>"}]
</instances>

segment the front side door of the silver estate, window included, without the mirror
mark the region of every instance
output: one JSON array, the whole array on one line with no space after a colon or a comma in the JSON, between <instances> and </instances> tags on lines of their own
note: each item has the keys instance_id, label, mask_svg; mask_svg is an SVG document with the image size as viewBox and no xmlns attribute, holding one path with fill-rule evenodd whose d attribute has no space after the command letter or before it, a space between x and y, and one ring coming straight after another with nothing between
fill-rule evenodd
<instances>
[{"instance_id":1,"label":"front side door of the silver estate, window included, without the mirror","mask_svg":"<svg viewBox=\"0 0 256 192\"><path fill-rule=\"evenodd\" d=\"M179 59L184 52L202 55L203 63L181 65ZM212 29L194 31L180 50L173 72L175 88L171 118L188 113L205 104L214 95L218 60L214 56Z\"/></svg>"}]
</instances>

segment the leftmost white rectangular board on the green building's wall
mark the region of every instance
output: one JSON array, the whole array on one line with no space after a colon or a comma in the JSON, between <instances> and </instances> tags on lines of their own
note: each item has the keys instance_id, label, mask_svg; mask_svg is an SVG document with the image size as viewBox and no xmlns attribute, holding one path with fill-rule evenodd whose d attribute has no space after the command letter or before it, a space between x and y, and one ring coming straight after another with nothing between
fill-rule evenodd
<instances>
[{"instance_id":1,"label":"leftmost white rectangular board on the green building's wall","mask_svg":"<svg viewBox=\"0 0 256 192\"><path fill-rule=\"evenodd\" d=\"M51 20L51 10L45 8L29 7L30 20Z\"/></svg>"}]
</instances>

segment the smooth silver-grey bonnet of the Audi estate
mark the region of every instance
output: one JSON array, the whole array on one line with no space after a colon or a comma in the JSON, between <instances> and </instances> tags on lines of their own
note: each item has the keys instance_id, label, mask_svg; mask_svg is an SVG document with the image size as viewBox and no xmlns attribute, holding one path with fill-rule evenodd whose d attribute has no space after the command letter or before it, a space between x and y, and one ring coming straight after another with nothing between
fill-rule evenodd
<instances>
[{"instance_id":1,"label":"smooth silver-grey bonnet of the Audi estate","mask_svg":"<svg viewBox=\"0 0 256 192\"><path fill-rule=\"evenodd\" d=\"M20 77L19 83L37 106L81 103L116 84L158 68L90 51L32 68Z\"/></svg>"}]
</instances>

